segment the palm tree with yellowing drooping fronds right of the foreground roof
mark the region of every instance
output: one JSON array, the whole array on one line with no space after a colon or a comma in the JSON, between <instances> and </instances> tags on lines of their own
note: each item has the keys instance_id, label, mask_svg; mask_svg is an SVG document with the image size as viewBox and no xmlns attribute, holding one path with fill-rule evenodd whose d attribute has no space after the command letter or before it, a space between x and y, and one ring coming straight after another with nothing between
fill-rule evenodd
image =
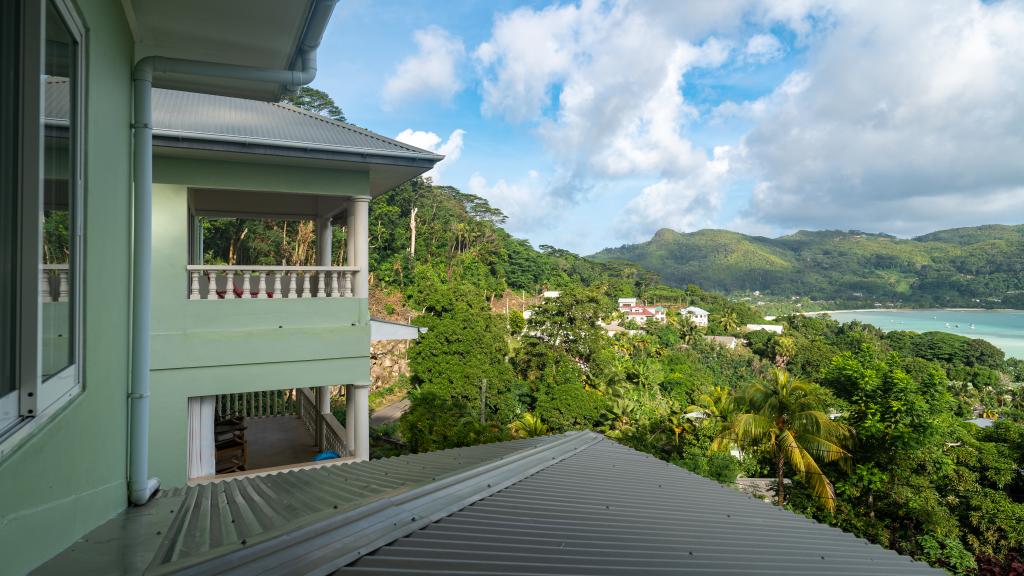
<instances>
[{"instance_id":1,"label":"palm tree with yellowing drooping fronds right of the foreground roof","mask_svg":"<svg viewBox=\"0 0 1024 576\"><path fill-rule=\"evenodd\" d=\"M845 446L852 439L849 426L833 421L821 410L821 388L772 369L768 381L751 384L743 394L748 412L733 417L712 445L714 450L734 444L767 446L775 458L778 505L785 503L785 465L810 486L828 510L836 509L836 489L821 472L818 461L850 464Z\"/></svg>"}]
</instances>

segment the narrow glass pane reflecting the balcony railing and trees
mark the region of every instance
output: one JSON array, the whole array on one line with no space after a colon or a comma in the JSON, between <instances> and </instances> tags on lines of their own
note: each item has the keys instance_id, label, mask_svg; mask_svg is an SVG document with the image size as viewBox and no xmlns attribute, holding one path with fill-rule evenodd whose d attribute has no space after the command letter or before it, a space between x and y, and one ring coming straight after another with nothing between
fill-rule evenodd
<instances>
[{"instance_id":1,"label":"narrow glass pane reflecting the balcony railing and trees","mask_svg":"<svg viewBox=\"0 0 1024 576\"><path fill-rule=\"evenodd\" d=\"M46 5L43 44L42 300L43 379L75 363L73 291L75 216L75 40L59 13Z\"/></svg>"}]
</instances>

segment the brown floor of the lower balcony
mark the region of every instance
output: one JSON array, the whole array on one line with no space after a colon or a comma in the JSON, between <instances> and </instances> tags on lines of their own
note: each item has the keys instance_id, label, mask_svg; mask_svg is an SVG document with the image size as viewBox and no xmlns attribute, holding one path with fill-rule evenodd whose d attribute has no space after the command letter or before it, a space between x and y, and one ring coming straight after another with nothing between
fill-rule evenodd
<instances>
[{"instance_id":1,"label":"brown floor of the lower balcony","mask_svg":"<svg viewBox=\"0 0 1024 576\"><path fill-rule=\"evenodd\" d=\"M319 453L298 416L246 419L249 471L311 462Z\"/></svg>"}]
</instances>

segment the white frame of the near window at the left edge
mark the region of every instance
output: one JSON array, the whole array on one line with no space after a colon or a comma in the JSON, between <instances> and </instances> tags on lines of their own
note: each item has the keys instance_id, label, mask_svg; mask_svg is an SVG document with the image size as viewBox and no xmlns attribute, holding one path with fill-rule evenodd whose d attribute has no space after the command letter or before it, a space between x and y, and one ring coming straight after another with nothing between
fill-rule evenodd
<instances>
[{"instance_id":1,"label":"white frame of the near window at the left edge","mask_svg":"<svg viewBox=\"0 0 1024 576\"><path fill-rule=\"evenodd\" d=\"M42 230L39 214L43 203L45 171L43 166L44 96L43 58L45 57L46 7L50 4L76 43L74 74L71 83L72 106L69 118L70 146L73 150L69 201L73 230L69 231L72 253L69 261L72 308L72 363L60 372L43 379L42 318L43 303L39 294L40 262L42 262ZM82 291L84 286L84 177L85 162L85 51L86 33L78 13L69 0L22 1L22 108L19 177L16 194L19 206L19 245L17 263L16 326L14 344L14 378L16 393L0 399L0 408L9 409L16 402L18 417L0 422L0 459L12 453L26 437L54 415L82 390Z\"/></svg>"}]
</instances>

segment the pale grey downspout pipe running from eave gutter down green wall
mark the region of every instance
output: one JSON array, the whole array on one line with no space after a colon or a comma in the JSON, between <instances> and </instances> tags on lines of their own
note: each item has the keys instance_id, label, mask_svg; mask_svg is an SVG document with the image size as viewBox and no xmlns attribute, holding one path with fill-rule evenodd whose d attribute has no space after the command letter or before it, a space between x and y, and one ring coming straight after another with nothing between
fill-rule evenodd
<instances>
[{"instance_id":1,"label":"pale grey downspout pipe running from eave gutter down green wall","mask_svg":"<svg viewBox=\"0 0 1024 576\"><path fill-rule=\"evenodd\" d=\"M300 70L273 70L220 63L147 56L135 64L134 156L132 172L134 234L132 244L132 335L130 462L128 493L132 504L146 503L160 488L150 478L150 320L153 308L153 78L159 74L206 76L283 84L298 90L316 77L316 49L337 0L318 0L299 46Z\"/></svg>"}]
</instances>

